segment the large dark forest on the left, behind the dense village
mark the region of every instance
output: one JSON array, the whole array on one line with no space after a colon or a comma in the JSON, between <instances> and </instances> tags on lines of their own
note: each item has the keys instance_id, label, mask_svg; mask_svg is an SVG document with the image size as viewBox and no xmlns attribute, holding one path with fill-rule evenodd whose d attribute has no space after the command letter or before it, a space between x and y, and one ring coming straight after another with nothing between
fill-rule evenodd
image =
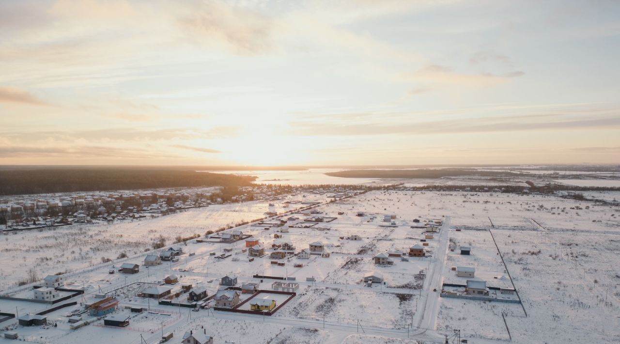
<instances>
[{"instance_id":1,"label":"large dark forest on the left, behind the dense village","mask_svg":"<svg viewBox=\"0 0 620 344\"><path fill-rule=\"evenodd\" d=\"M0 169L0 195L251 185L255 177L150 167Z\"/></svg>"}]
</instances>

